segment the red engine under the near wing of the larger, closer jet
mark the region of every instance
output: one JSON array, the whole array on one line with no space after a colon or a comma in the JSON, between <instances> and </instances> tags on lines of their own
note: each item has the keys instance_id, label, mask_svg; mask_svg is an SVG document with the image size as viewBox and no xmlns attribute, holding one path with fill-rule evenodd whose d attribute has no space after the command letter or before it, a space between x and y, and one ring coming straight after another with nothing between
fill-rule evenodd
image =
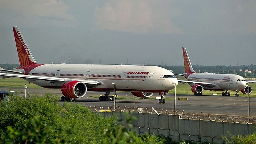
<instances>
[{"instance_id":1,"label":"red engine under the near wing of the larger, closer jet","mask_svg":"<svg viewBox=\"0 0 256 144\"><path fill-rule=\"evenodd\" d=\"M87 87L83 82L73 80L63 84L61 87L61 92L64 96L70 98L82 98L87 92Z\"/></svg>"}]
</instances>

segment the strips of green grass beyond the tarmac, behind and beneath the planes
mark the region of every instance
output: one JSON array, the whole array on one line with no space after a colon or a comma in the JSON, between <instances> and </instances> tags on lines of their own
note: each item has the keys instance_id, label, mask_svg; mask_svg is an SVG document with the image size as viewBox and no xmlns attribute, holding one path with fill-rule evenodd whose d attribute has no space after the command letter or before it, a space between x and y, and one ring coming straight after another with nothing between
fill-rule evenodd
<instances>
[{"instance_id":1,"label":"strips of green grass beyond the tarmac, behind and beneath the planes","mask_svg":"<svg viewBox=\"0 0 256 144\"><path fill-rule=\"evenodd\" d=\"M6 78L6 79L0 78L1 87L24 88L25 84L29 86L29 88L42 88L32 83L29 84L29 82L27 82L26 80L23 80L22 78ZM250 96L256 97L256 83L250 83L248 85L252 87L252 93L250 94ZM212 96L213 94L217 94L218 96L221 96L222 92L224 91L210 92L209 90L203 90L203 94L209 95L209 96ZM234 96L236 93L235 91L229 91L229 92L230 92L230 96ZM174 89L170 90L169 93L174 94ZM188 84L179 83L178 86L176 87L176 94L192 94L193 95L194 93L191 91L191 87ZM248 95L242 94L241 92L239 92L239 96L247 97Z\"/></svg>"}]
</instances>

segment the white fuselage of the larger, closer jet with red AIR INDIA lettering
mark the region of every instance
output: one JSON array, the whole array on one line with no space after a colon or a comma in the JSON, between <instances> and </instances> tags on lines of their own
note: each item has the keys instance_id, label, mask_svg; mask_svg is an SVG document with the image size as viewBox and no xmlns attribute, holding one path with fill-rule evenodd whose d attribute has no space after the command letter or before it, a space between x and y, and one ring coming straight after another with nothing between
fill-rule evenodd
<instances>
[{"instance_id":1,"label":"white fuselage of the larger, closer jet with red AIR INDIA lettering","mask_svg":"<svg viewBox=\"0 0 256 144\"><path fill-rule=\"evenodd\" d=\"M76 80L97 80L98 86L86 84L88 91L129 92L161 92L168 91L178 84L172 72L158 66L130 66L130 65L96 65L96 64L38 64L36 66L22 66L14 70L24 71L32 76L50 76L71 78ZM170 76L163 78L164 75ZM50 82L45 80L29 80L44 88L61 88L65 82Z\"/></svg>"}]
</instances>

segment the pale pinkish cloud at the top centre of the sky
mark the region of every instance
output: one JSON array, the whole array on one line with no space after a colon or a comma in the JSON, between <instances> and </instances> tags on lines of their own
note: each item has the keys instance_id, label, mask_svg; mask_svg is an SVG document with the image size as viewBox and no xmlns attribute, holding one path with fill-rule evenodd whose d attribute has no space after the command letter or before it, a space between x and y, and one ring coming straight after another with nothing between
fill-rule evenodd
<instances>
[{"instance_id":1,"label":"pale pinkish cloud at the top centre of the sky","mask_svg":"<svg viewBox=\"0 0 256 144\"><path fill-rule=\"evenodd\" d=\"M179 15L179 11L158 6L150 1L110 0L95 8L96 26L136 34L182 34L170 19Z\"/></svg>"}]
</instances>

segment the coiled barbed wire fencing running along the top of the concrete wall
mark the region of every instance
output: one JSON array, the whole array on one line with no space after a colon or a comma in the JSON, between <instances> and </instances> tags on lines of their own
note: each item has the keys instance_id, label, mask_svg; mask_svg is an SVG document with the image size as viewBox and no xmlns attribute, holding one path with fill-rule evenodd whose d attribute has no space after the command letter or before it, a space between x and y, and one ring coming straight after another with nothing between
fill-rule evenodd
<instances>
[{"instance_id":1,"label":"coiled barbed wire fencing running along the top of the concrete wall","mask_svg":"<svg viewBox=\"0 0 256 144\"><path fill-rule=\"evenodd\" d=\"M90 106L92 112L138 112L148 114L165 114L165 115L179 115L181 119L190 120L209 120L217 122L234 122L234 123L252 123L256 124L255 116L232 116L232 115L219 115L219 114L203 114L184 112L183 110L173 108L152 108L140 106ZM156 111L154 111L156 110ZM249 120L249 121L248 121Z\"/></svg>"}]
</instances>

